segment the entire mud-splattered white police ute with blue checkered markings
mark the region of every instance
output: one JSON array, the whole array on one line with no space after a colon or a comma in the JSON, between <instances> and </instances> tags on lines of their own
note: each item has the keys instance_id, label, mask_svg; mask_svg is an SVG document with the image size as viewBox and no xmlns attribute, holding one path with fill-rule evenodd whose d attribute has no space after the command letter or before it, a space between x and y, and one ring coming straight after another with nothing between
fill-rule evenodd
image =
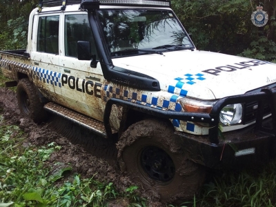
<instances>
[{"instance_id":1,"label":"entire mud-splattered white police ute with blue checkered markings","mask_svg":"<svg viewBox=\"0 0 276 207\"><path fill-rule=\"evenodd\" d=\"M40 1L26 50L1 51L22 115L118 139L118 162L164 201L204 168L275 157L276 65L196 50L170 1Z\"/></svg>"}]
</instances>

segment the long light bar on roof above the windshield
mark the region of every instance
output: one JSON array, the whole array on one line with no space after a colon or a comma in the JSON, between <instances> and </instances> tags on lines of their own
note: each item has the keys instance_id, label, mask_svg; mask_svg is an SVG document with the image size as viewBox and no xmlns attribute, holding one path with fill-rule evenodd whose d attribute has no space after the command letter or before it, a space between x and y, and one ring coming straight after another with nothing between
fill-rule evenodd
<instances>
[{"instance_id":1,"label":"long light bar on roof above the windshield","mask_svg":"<svg viewBox=\"0 0 276 207\"><path fill-rule=\"evenodd\" d=\"M170 7L170 1L155 1L155 0L99 0L101 4L116 4L116 5L143 5L143 6L161 6Z\"/></svg>"}]
</instances>

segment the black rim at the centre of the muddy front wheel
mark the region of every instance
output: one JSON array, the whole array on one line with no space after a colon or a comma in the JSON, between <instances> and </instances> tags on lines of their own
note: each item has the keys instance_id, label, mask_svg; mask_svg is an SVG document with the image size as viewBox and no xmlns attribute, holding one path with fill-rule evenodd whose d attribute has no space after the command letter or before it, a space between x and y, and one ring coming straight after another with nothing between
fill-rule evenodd
<instances>
[{"instance_id":1,"label":"black rim at the centre of the muddy front wheel","mask_svg":"<svg viewBox=\"0 0 276 207\"><path fill-rule=\"evenodd\" d=\"M175 164L170 156L156 146L147 146L141 152L141 167L156 181L170 181L175 176Z\"/></svg>"}]
</instances>

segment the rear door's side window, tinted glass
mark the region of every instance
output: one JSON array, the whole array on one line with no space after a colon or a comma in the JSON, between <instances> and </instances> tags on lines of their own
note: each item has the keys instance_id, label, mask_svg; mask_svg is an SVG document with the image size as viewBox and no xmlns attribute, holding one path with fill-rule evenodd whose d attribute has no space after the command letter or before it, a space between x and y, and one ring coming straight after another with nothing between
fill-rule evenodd
<instances>
[{"instance_id":1,"label":"rear door's side window, tinted glass","mask_svg":"<svg viewBox=\"0 0 276 207\"><path fill-rule=\"evenodd\" d=\"M37 51L59 54L59 16L39 17Z\"/></svg>"}]
</instances>

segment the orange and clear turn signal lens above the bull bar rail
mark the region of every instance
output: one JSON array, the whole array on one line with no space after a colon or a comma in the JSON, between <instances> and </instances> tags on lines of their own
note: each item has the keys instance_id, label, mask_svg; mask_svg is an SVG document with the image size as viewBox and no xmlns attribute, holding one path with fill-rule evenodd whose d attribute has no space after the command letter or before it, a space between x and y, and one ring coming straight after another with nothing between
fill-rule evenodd
<instances>
[{"instance_id":1,"label":"orange and clear turn signal lens above the bull bar rail","mask_svg":"<svg viewBox=\"0 0 276 207\"><path fill-rule=\"evenodd\" d=\"M181 98L179 102L185 112L210 113L215 101L203 101L189 98Z\"/></svg>"}]
</instances>

